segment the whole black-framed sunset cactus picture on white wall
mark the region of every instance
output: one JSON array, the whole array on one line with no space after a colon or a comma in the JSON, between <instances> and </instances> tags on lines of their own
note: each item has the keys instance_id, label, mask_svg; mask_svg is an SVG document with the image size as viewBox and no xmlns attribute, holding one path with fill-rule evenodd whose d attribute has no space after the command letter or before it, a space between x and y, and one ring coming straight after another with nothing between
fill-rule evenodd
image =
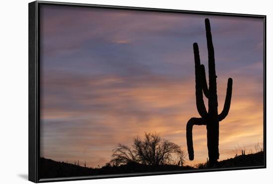
<instances>
[{"instance_id":1,"label":"whole black-framed sunset cactus picture on white wall","mask_svg":"<svg viewBox=\"0 0 273 184\"><path fill-rule=\"evenodd\" d=\"M29 3L29 180L266 168L266 16Z\"/></svg>"}]
</instances>

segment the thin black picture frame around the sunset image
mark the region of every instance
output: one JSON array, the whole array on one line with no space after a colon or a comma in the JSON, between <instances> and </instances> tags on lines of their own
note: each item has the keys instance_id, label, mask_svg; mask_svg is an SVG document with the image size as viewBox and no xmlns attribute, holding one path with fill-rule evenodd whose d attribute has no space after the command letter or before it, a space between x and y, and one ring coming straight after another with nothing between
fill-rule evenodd
<instances>
[{"instance_id":1,"label":"thin black picture frame around the sunset image","mask_svg":"<svg viewBox=\"0 0 273 184\"><path fill-rule=\"evenodd\" d=\"M40 155L40 60L39 60L39 7L42 4L62 5L62 6L80 6L80 7L97 7L109 9L127 9L137 11L153 11L153 12L175 12L187 14L202 14L202 15L221 15L221 16L235 16L235 17L252 17L261 18L264 21L264 153L265 165L255 167L242 168L225 168L225 169L205 169L205 170L191 170L191 171L167 171L167 172L147 172L147 173L130 173L130 174L115 174L115 175L101 175L88 177L69 177L69 178L39 178L39 155ZM67 2L51 2L51 1L33 1L29 3L29 165L28 176L29 181L34 183L43 182L60 182L73 180L90 180L90 179L106 179L106 178L120 178L120 177L136 177L136 176L151 176L151 175L168 175L168 174L182 174L182 173L198 173L198 172L213 172L213 171L229 171L242 169L260 169L266 168L266 15L252 15L252 14L235 14L235 13L219 13L219 12L205 12L205 11L189 11L189 10L175 10L175 9L157 9L157 8L143 8L143 7L127 7L127 6L112 6L112 5L98 5L98 4L83 4L83 3L67 3Z\"/></svg>"}]
</instances>

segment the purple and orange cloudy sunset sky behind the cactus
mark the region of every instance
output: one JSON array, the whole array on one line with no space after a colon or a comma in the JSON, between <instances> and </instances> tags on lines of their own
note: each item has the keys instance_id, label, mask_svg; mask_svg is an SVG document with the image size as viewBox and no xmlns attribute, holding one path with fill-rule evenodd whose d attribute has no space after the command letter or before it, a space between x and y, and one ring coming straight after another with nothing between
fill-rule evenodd
<instances>
[{"instance_id":1,"label":"purple and orange cloudy sunset sky behind the cactus","mask_svg":"<svg viewBox=\"0 0 273 184\"><path fill-rule=\"evenodd\" d=\"M186 124L200 117L193 43L207 68L205 18L215 50L220 159L263 143L263 19L57 5L40 9L41 156L87 167L109 162L118 143L157 132L187 151ZM208 77L207 77L208 78ZM205 98L205 102L207 99ZM205 162L206 128L193 129Z\"/></svg>"}]
</instances>

